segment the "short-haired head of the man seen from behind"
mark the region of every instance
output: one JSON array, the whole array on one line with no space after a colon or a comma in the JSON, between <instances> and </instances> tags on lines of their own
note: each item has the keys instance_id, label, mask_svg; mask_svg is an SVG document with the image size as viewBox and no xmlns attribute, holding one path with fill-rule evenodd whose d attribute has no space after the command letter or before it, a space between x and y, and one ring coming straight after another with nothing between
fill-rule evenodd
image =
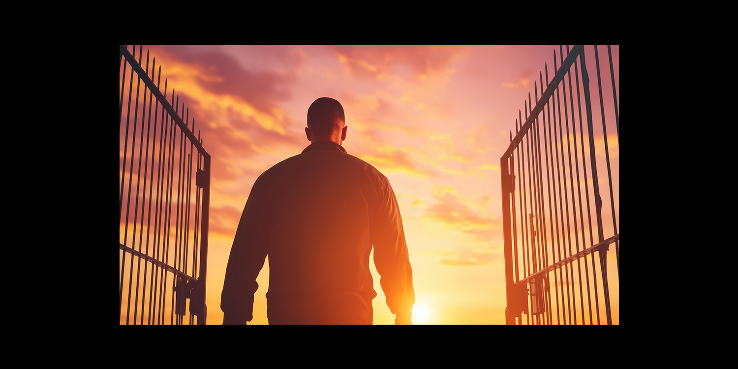
<instances>
[{"instance_id":1,"label":"short-haired head of the man seen from behind","mask_svg":"<svg viewBox=\"0 0 738 369\"><path fill-rule=\"evenodd\" d=\"M343 106L331 97L320 97L308 108L305 134L310 142L333 141L341 145L346 139Z\"/></svg>"}]
</instances>

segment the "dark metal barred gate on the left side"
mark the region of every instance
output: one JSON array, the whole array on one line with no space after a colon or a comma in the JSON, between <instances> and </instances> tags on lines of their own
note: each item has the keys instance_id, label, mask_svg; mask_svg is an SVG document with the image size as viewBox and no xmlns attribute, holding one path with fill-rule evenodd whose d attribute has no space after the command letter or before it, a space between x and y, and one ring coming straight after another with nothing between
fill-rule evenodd
<instances>
[{"instance_id":1,"label":"dark metal barred gate on the left side","mask_svg":"<svg viewBox=\"0 0 738 369\"><path fill-rule=\"evenodd\" d=\"M120 324L205 324L210 155L142 52L120 45Z\"/></svg>"}]
</instances>

